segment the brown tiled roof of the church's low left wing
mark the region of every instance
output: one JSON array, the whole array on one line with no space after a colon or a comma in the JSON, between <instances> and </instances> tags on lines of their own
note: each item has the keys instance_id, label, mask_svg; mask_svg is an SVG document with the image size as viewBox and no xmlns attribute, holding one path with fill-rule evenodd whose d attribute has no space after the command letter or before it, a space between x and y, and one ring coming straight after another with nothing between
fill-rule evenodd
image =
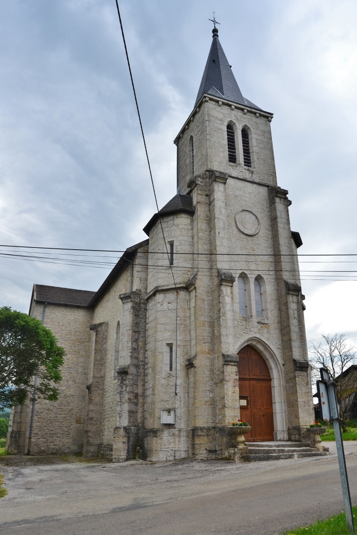
<instances>
[{"instance_id":1,"label":"brown tiled roof of the church's low left wing","mask_svg":"<svg viewBox=\"0 0 357 535\"><path fill-rule=\"evenodd\" d=\"M73 288L60 288L58 286L45 286L35 284L35 300L43 303L69 304L73 307L87 307L95 292L75 290Z\"/></svg>"}]
</instances>

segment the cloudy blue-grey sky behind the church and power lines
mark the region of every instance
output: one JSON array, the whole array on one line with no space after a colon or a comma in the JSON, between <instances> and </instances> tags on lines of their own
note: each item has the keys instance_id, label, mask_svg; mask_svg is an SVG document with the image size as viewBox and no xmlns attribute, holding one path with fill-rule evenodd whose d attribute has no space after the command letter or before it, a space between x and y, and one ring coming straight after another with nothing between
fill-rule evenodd
<instances>
[{"instance_id":1,"label":"cloudy blue-grey sky behind the church and power lines","mask_svg":"<svg viewBox=\"0 0 357 535\"><path fill-rule=\"evenodd\" d=\"M172 141L192 110L216 10L242 93L275 114L299 253L357 254L356 2L119 5L160 207L176 193ZM115 0L0 0L0 72L0 243L122 250L145 239L156 210ZM0 305L26 312L34 282L96 290L109 273L44 256L0 258ZM303 270L343 272L302 277L308 340L337 331L357 343L357 256L328 259L300 258Z\"/></svg>"}]
</instances>

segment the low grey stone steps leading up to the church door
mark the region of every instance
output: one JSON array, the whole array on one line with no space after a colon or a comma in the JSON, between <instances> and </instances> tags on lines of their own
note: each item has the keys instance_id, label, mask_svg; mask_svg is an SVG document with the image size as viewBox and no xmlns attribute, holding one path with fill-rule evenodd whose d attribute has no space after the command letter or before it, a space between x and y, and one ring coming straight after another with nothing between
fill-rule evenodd
<instances>
[{"instance_id":1,"label":"low grey stone steps leading up to the church door","mask_svg":"<svg viewBox=\"0 0 357 535\"><path fill-rule=\"evenodd\" d=\"M245 461L277 461L279 459L298 459L302 457L324 457L328 448L317 450L303 442L246 442Z\"/></svg>"}]
</instances>

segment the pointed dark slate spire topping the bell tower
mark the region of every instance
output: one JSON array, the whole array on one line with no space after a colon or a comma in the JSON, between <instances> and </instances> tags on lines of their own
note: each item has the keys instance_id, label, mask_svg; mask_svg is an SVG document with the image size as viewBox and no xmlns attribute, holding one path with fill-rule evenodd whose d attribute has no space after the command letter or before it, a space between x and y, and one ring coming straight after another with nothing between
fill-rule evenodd
<instances>
[{"instance_id":1,"label":"pointed dark slate spire topping the bell tower","mask_svg":"<svg viewBox=\"0 0 357 535\"><path fill-rule=\"evenodd\" d=\"M218 28L212 29L212 44L209 51L206 67L204 68L200 89L196 98L195 106L199 103L202 95L212 95L224 98L224 100L249 106L260 110L253 102L248 101L241 94L236 78L231 66L223 52L223 48L218 39Z\"/></svg>"}]
</instances>

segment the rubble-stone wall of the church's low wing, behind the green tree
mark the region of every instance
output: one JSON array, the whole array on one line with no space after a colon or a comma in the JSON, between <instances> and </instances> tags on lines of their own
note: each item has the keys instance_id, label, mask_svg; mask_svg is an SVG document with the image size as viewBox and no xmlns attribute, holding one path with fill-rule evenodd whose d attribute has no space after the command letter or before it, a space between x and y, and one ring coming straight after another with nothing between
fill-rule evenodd
<instances>
[{"instance_id":1,"label":"rubble-stone wall of the church's low wing, behind the green tree","mask_svg":"<svg viewBox=\"0 0 357 535\"><path fill-rule=\"evenodd\" d=\"M35 303L32 315L42 319L43 303ZM31 442L32 454L80 453L83 445L87 398L89 329L92 310L47 304L44 326L51 329L66 351L57 402L35 403ZM26 440L31 418L31 404L26 411ZM20 452L18 452L20 453Z\"/></svg>"}]
</instances>

